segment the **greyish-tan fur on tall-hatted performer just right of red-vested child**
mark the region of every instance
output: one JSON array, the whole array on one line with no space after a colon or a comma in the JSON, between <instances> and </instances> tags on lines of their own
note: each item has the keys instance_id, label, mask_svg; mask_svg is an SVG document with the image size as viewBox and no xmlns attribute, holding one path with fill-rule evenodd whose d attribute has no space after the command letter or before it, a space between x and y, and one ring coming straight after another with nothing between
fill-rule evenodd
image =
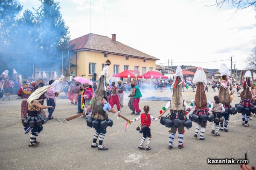
<instances>
[{"instance_id":1,"label":"greyish-tan fur on tall-hatted performer just right of red-vested child","mask_svg":"<svg viewBox=\"0 0 256 170\"><path fill-rule=\"evenodd\" d=\"M182 85L178 85L181 82L180 77L176 77L177 85L173 88L171 109L175 111L184 110L183 96L182 96Z\"/></svg>"}]
</instances>

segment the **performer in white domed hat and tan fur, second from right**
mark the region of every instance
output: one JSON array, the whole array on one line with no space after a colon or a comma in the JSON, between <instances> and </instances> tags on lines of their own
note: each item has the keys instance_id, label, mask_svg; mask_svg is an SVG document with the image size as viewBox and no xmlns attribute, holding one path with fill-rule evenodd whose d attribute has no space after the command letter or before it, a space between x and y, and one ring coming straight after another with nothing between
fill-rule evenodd
<instances>
[{"instance_id":1,"label":"performer in white domed hat and tan fur, second from right","mask_svg":"<svg viewBox=\"0 0 256 170\"><path fill-rule=\"evenodd\" d=\"M220 66L219 72L221 73L221 82L220 82L220 91L218 94L218 97L220 99L220 103L224 105L224 108L226 108L224 113L221 113L224 117L224 129L223 129L223 122L220 122L220 130L228 132L227 125L229 123L230 114L234 113L235 108L230 105L232 102L230 98L230 93L227 88L227 82L228 82L228 76L230 76L229 68L226 64L222 64ZM231 109L231 110L230 110Z\"/></svg>"}]
</instances>

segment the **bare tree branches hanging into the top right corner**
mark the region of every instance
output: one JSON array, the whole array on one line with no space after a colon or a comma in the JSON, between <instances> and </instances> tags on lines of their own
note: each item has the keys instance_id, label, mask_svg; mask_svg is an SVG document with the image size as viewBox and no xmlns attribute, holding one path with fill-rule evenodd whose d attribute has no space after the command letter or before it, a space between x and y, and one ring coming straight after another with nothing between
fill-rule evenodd
<instances>
[{"instance_id":1,"label":"bare tree branches hanging into the top right corner","mask_svg":"<svg viewBox=\"0 0 256 170\"><path fill-rule=\"evenodd\" d=\"M218 6L219 8L221 8L224 4L227 3L231 3L234 7L236 7L236 11L245 8L256 8L256 0L216 0L216 3L210 6Z\"/></svg>"}]
</instances>

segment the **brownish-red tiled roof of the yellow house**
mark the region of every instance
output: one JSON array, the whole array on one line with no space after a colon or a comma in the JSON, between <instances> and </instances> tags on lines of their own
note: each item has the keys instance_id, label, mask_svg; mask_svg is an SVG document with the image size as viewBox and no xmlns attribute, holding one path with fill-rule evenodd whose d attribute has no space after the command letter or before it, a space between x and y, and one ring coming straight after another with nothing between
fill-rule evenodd
<instances>
[{"instance_id":1,"label":"brownish-red tiled roof of the yellow house","mask_svg":"<svg viewBox=\"0 0 256 170\"><path fill-rule=\"evenodd\" d=\"M112 54L125 55L130 57L159 60L156 57L145 54L139 50L124 45L121 42L113 42L111 38L98 34L87 34L70 41L74 45L73 50L95 50Z\"/></svg>"}]
</instances>

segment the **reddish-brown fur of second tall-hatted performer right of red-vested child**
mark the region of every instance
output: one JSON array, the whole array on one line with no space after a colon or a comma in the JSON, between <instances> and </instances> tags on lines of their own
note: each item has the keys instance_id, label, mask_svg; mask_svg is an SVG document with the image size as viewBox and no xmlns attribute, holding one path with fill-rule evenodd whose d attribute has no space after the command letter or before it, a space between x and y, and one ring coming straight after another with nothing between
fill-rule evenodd
<instances>
[{"instance_id":1,"label":"reddish-brown fur of second tall-hatted performer right of red-vested child","mask_svg":"<svg viewBox=\"0 0 256 170\"><path fill-rule=\"evenodd\" d=\"M198 82L195 93L195 106L199 109L204 109L207 107L207 97L204 91L203 82Z\"/></svg>"}]
</instances>

